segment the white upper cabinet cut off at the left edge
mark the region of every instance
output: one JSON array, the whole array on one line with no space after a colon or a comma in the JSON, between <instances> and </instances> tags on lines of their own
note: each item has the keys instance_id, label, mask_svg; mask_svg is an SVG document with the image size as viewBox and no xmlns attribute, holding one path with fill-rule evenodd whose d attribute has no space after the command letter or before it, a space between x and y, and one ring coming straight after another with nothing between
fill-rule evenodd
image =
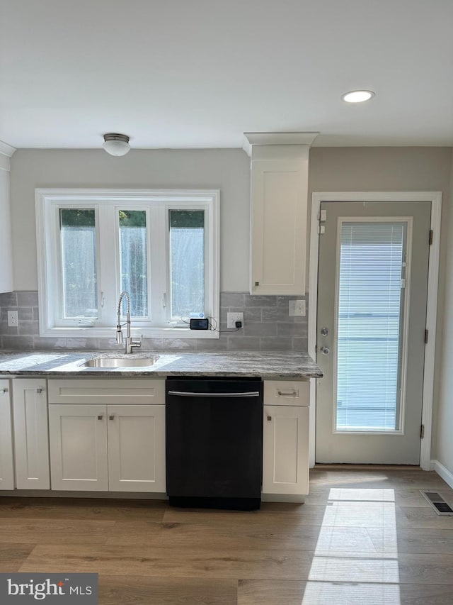
<instances>
[{"instance_id":1,"label":"white upper cabinet cut off at the left edge","mask_svg":"<svg viewBox=\"0 0 453 605\"><path fill-rule=\"evenodd\" d=\"M0 141L0 292L13 290L11 211L9 204L9 158L15 149Z\"/></svg>"}]
</instances>

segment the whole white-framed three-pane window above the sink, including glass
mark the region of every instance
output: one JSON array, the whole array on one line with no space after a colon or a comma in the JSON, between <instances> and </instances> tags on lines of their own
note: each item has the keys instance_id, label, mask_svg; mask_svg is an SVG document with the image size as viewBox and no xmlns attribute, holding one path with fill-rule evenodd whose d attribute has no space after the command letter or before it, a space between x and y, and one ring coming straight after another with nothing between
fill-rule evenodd
<instances>
[{"instance_id":1,"label":"whole white-framed three-pane window above the sink, including glass","mask_svg":"<svg viewBox=\"0 0 453 605\"><path fill-rule=\"evenodd\" d=\"M36 216L40 335L114 338L125 290L145 337L218 338L188 318L219 322L219 192L37 189Z\"/></svg>"}]
</instances>

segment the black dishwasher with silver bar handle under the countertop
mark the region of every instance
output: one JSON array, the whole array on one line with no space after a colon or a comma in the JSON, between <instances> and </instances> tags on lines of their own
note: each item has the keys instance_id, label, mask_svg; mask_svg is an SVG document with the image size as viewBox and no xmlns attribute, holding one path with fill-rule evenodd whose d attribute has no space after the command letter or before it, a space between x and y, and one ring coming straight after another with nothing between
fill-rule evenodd
<instances>
[{"instance_id":1,"label":"black dishwasher with silver bar handle under the countertop","mask_svg":"<svg viewBox=\"0 0 453 605\"><path fill-rule=\"evenodd\" d=\"M166 481L171 506L260 508L263 382L166 380Z\"/></svg>"}]
</instances>

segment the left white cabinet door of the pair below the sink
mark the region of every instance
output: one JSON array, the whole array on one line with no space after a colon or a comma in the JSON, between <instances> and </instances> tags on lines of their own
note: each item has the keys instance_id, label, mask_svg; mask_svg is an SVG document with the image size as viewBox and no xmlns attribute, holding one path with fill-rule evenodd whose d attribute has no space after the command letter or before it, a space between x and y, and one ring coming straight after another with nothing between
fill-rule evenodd
<instances>
[{"instance_id":1,"label":"left white cabinet door of the pair below the sink","mask_svg":"<svg viewBox=\"0 0 453 605\"><path fill-rule=\"evenodd\" d=\"M103 405L50 405L52 489L108 490L107 416Z\"/></svg>"}]
</instances>

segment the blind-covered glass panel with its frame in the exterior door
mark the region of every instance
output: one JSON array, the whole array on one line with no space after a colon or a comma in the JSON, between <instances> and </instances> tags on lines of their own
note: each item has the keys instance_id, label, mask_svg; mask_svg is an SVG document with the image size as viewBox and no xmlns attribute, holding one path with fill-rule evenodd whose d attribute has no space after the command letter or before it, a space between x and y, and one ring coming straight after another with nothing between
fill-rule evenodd
<instances>
[{"instance_id":1,"label":"blind-covered glass panel with its frame in the exterior door","mask_svg":"<svg viewBox=\"0 0 453 605\"><path fill-rule=\"evenodd\" d=\"M411 218L338 219L334 432L401 433Z\"/></svg>"}]
</instances>

